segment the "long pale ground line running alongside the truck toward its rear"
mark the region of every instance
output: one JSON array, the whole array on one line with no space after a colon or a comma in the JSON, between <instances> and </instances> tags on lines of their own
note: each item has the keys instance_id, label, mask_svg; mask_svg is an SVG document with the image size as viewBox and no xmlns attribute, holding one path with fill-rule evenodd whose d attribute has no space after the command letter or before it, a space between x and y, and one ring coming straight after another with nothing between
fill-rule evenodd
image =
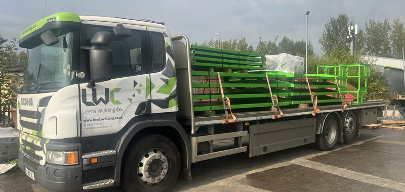
<instances>
[{"instance_id":1,"label":"long pale ground line running alongside the truck toward its rear","mask_svg":"<svg viewBox=\"0 0 405 192\"><path fill-rule=\"evenodd\" d=\"M384 135L375 136L373 138L363 140L363 141L359 141L359 142L353 143L353 144L351 144L349 146L344 146L344 147L341 147L339 149L335 149L335 150L332 150L332 151L311 154L311 155L303 156L303 157L300 157L300 158L297 158L297 159L301 159L301 160L311 159L311 158L316 157L316 156L325 155L325 154L328 154L328 153L331 153L331 152L334 152L334 151L349 148L351 146L361 145L364 142L374 140L374 139L380 138L382 136L384 136ZM263 189L256 188L256 187L253 187L253 186L249 186L249 184L247 184L247 183L244 184L244 182L242 182L242 181L246 181L246 176L247 175L262 172L262 171L266 171L266 170L269 170L269 169L288 166L288 165L293 164L294 161L297 160L297 159L294 159L294 160L289 161L289 162L282 162L282 163L269 165L269 166L266 166L266 167L262 167L262 168L259 168L259 169L255 169L255 170L252 170L252 171L248 171L248 172L245 172L245 173L234 175L234 176L231 176L231 177L228 177L228 178L225 178L225 179L217 180L217 181L209 183L209 184L199 185L198 187L193 187L193 188L188 188L186 190L182 190L180 188L179 191L235 191L235 189L237 189L237 191L268 191L268 190L263 190ZM309 160L307 160L307 161L309 161ZM363 174L363 173L359 173L359 174ZM208 177L207 177L207 179L208 179ZM354 179L354 180L357 180L357 179ZM389 181L391 181L391 180L389 180ZM374 183L372 183L372 184L374 184Z\"/></svg>"}]
</instances>

